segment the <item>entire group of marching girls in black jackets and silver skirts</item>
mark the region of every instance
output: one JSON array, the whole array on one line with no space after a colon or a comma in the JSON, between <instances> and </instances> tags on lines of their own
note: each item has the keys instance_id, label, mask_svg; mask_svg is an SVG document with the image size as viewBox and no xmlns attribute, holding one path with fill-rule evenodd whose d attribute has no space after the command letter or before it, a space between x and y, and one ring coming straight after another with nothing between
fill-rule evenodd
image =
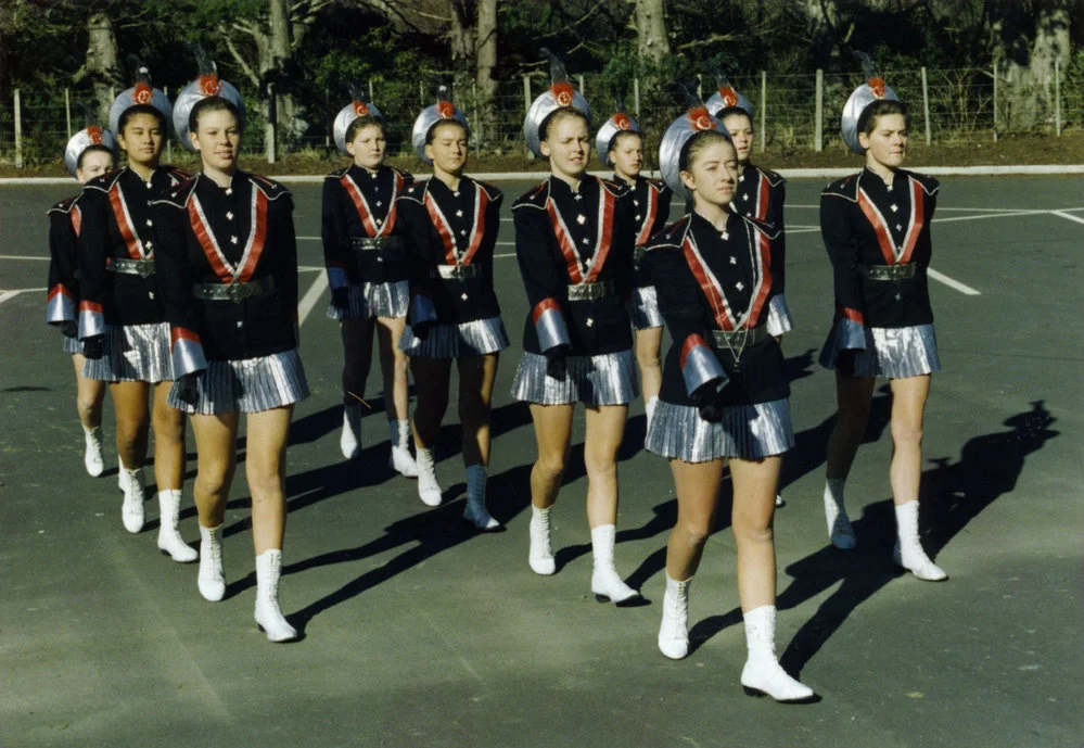
<instances>
[{"instance_id":1,"label":"entire group of marching girls in black jackets and silver skirts","mask_svg":"<svg viewBox=\"0 0 1084 748\"><path fill-rule=\"evenodd\" d=\"M201 59L176 102L145 68L113 102L109 129L89 124L65 152L81 192L49 211L47 319L61 328L78 385L91 476L104 469L102 402L116 411L122 521L144 524L149 431L154 429L157 545L199 560L200 594L222 599L221 532L237 468L241 414L252 494L255 620L272 642L297 637L278 601L286 519L284 479L293 407L308 395L298 355L293 203L281 185L238 169L244 102ZM690 101L661 139L662 180L640 175L643 139L623 111L594 134L583 93L551 60L551 86L527 111L523 134L550 176L511 206L528 301L512 396L530 404L537 443L531 470L527 562L553 574L550 514L567 467L577 403L584 404L591 592L616 605L639 599L614 560L617 451L629 403L642 393L648 451L668 460L677 522L666 549L659 649L689 651L690 585L712 530L724 464L734 485L732 530L749 693L815 698L775 650L773 516L782 456L794 445L790 388L779 345L787 307L785 183L750 162L752 106L727 81ZM489 415L509 339L494 291L503 195L466 173L470 126L446 89L418 115L415 152L433 176L384 164L385 121L353 91L334 123L352 163L323 182L321 233L344 353L346 459L360 449L362 396L375 343L392 467L416 478L428 506L442 502L433 446L458 370L467 500L463 519L501 529L486 507ZM199 153L196 175L160 163L168 128ZM857 542L844 486L873 384L892 390L890 468L895 562L921 580L947 578L918 535L922 415L938 371L927 289L938 182L902 167L907 106L872 71L842 114L846 144L865 159L822 192L820 225L833 270L833 325L820 355L834 371L839 413L826 445L829 541ZM613 178L588 174L591 147ZM119 151L127 164L117 168ZM669 206L686 201L672 220ZM673 341L661 351L662 330ZM408 373L416 386L409 411ZM197 453L193 485L199 552L179 531L186 428Z\"/></svg>"}]
</instances>

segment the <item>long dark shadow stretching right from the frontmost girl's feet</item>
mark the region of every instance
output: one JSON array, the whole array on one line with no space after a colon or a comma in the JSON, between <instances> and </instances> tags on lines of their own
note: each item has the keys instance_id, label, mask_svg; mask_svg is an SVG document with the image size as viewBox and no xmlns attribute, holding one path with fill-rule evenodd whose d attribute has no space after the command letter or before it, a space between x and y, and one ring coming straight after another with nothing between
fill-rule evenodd
<instances>
[{"instance_id":1,"label":"long dark shadow stretching right from the frontmost girl's feet","mask_svg":"<svg viewBox=\"0 0 1084 748\"><path fill-rule=\"evenodd\" d=\"M928 460L933 467L922 473L920 534L931 558L936 558L974 517L1016 487L1025 458L1060 433L1049 428L1054 422L1045 402L1033 401L1030 410L1004 421L1010 427L1008 431L969 440L957 461L947 457ZM853 525L858 537L855 549L841 552L826 545L786 569L793 582L777 597L779 610L795 608L842 583L802 624L782 652L783 668L795 676L859 605L906 573L892 562L895 516L891 499L866 506ZM952 569L947 571L951 575ZM952 583L951 579L946 582ZM740 622L740 609L705 619L690 631L690 639L702 644Z\"/></svg>"}]
</instances>

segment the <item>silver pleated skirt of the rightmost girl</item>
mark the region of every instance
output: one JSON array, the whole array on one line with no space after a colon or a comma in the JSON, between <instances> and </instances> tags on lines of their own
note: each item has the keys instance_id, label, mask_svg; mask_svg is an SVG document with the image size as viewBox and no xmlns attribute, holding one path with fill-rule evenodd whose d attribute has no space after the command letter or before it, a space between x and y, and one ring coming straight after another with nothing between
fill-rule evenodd
<instances>
[{"instance_id":1,"label":"silver pleated skirt of the rightmost girl","mask_svg":"<svg viewBox=\"0 0 1084 748\"><path fill-rule=\"evenodd\" d=\"M820 351L820 365L826 369L836 368L839 327L832 328ZM941 371L933 325L869 327L865 328L865 334L866 350L854 357L855 377L904 379Z\"/></svg>"}]
</instances>

